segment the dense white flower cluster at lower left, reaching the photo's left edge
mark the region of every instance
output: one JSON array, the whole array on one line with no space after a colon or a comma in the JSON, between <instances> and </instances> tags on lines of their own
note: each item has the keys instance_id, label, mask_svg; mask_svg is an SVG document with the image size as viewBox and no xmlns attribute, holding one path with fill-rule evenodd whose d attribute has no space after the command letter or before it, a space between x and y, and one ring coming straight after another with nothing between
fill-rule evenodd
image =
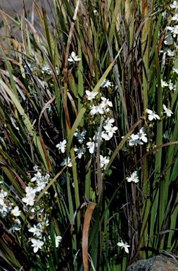
<instances>
[{"instance_id":1,"label":"dense white flower cluster at lower left, reaching the photo's left edge","mask_svg":"<svg viewBox=\"0 0 178 271\"><path fill-rule=\"evenodd\" d=\"M46 242L45 236L48 236L48 231L46 230L49 227L49 219L48 215L46 215L45 207L42 201L35 201L37 197L37 193L41 192L46 184L49 183L50 175L45 174L42 175L41 169L38 169L37 166L34 166L34 170L37 171L34 176L30 179L30 183L25 187L26 196L22 198L22 202L25 203L27 207L30 207L28 210L27 207L24 208L25 212L30 213L30 219L37 218L37 223L34 223L33 226L31 224L28 225L28 231L33 234L30 241L32 242L32 248L34 253L37 253L39 249L42 249L44 243ZM18 205L14 206L14 203L11 203L10 200L7 200L8 192L1 189L0 192L0 212L1 217L6 217L7 213L11 214L11 221L13 225L10 229L8 229L9 233L13 233L15 231L21 230L21 210L19 210ZM10 212L11 211L11 212ZM19 217L19 218L18 218ZM45 236L43 235L45 233ZM50 236L49 241L51 240ZM59 246L59 242L61 241L61 236L56 236L55 234L55 243L56 248ZM51 242L51 241L50 241Z\"/></svg>"}]
</instances>

